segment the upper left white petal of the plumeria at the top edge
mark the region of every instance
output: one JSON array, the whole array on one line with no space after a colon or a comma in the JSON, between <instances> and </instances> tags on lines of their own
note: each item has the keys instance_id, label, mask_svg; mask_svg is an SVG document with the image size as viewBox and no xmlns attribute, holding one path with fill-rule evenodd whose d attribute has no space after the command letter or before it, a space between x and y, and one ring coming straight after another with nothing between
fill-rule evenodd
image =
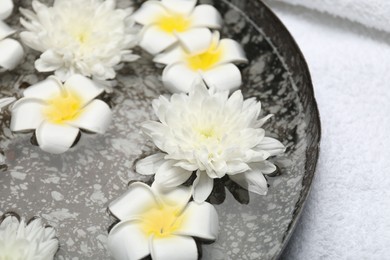
<instances>
[{"instance_id":1,"label":"upper left white petal of the plumeria at the top edge","mask_svg":"<svg viewBox=\"0 0 390 260\"><path fill-rule=\"evenodd\" d=\"M132 18L139 24L149 25L161 17L167 15L165 7L159 1L147 1L137 11Z\"/></svg>"}]
</instances>

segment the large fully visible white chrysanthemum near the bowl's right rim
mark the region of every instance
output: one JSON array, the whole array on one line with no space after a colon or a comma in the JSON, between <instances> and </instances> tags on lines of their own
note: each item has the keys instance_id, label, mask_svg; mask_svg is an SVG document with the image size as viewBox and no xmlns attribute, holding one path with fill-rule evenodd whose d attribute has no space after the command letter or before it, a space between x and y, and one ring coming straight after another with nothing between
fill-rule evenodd
<instances>
[{"instance_id":1,"label":"large fully visible white chrysanthemum near the bowl's right rim","mask_svg":"<svg viewBox=\"0 0 390 260\"><path fill-rule=\"evenodd\" d=\"M198 84L188 94L161 96L153 102L160 122L147 121L142 128L162 151L137 163L141 174L154 174L162 190L181 185L197 171L194 200L208 198L213 179L228 175L249 191L266 194L263 174L276 167L267 159L285 147L262 129L270 117L258 119L261 105L243 100L241 91L213 93Z\"/></svg>"}]
</instances>

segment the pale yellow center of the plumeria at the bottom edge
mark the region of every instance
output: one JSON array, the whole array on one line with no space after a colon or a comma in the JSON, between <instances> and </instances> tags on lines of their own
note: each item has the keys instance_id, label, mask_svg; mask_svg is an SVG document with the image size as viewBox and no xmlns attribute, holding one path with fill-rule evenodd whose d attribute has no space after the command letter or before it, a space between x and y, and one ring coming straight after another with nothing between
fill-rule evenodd
<instances>
[{"instance_id":1,"label":"pale yellow center of the plumeria at the bottom edge","mask_svg":"<svg viewBox=\"0 0 390 260\"><path fill-rule=\"evenodd\" d=\"M179 230L184 216L177 207L163 205L142 215L142 230L147 236L168 237Z\"/></svg>"}]
</instances>

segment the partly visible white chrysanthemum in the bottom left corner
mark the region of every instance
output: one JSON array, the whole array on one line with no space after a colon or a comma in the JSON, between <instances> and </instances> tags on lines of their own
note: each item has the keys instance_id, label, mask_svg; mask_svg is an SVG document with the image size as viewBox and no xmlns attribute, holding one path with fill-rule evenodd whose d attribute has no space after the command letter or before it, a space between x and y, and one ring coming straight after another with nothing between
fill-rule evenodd
<instances>
[{"instance_id":1,"label":"partly visible white chrysanthemum in the bottom left corner","mask_svg":"<svg viewBox=\"0 0 390 260\"><path fill-rule=\"evenodd\" d=\"M58 250L56 232L44 227L42 220L25 224L12 214L3 216L0 223L1 260L52 260Z\"/></svg>"}]
</instances>

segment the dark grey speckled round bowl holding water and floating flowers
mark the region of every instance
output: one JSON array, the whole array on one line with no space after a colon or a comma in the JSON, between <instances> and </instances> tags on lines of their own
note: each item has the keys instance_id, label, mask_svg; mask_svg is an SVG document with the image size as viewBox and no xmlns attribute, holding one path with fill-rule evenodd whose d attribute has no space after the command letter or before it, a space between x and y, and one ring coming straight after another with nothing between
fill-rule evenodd
<instances>
[{"instance_id":1,"label":"dark grey speckled round bowl holding water and floating flowers","mask_svg":"<svg viewBox=\"0 0 390 260\"><path fill-rule=\"evenodd\" d=\"M117 2L119 7L130 5L128 0ZM263 115L275 115L264 127L287 147L285 154L272 158L280 172L268 178L268 195L248 194L231 183L225 183L229 189L223 183L216 186L211 202L219 213L220 234L215 243L202 245L202 259L274 259L299 217L317 162L320 123L310 75L287 30L261 2L200 2L213 4L223 15L222 36L244 46L249 63L241 66L242 91L262 102ZM16 5L31 8L31 1ZM20 28L18 20L15 10L7 22ZM142 58L126 64L114 92L103 97L114 113L108 132L83 134L63 155L31 145L31 134L11 133L9 112L0 115L0 215L40 216L54 226L60 242L56 259L111 259L106 239L114 219L106 208L129 181L149 181L134 172L134 162L155 150L140 133L140 123L155 118L152 100L169 93L162 86L161 69L149 55L136 52ZM28 51L17 70L1 74L0 96L21 96L27 86L48 76L34 70L37 55Z\"/></svg>"}]
</instances>

